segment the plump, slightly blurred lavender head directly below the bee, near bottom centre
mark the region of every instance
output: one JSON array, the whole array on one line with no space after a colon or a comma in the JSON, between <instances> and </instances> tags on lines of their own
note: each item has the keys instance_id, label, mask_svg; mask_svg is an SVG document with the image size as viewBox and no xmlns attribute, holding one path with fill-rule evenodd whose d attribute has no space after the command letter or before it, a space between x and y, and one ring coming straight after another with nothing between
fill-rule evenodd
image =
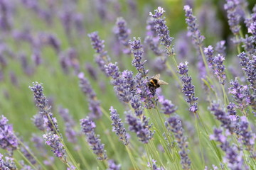
<instances>
[{"instance_id":1,"label":"plump, slightly blurred lavender head directly below the bee, near bottom centre","mask_svg":"<svg viewBox=\"0 0 256 170\"><path fill-rule=\"evenodd\" d=\"M127 114L126 117L127 123L129 124L129 130L136 133L139 141L144 144L148 143L154 135L154 132L149 130L151 128L149 120L147 120L144 115L142 116L142 119L135 118L133 115L129 114Z\"/></svg>"}]
</instances>

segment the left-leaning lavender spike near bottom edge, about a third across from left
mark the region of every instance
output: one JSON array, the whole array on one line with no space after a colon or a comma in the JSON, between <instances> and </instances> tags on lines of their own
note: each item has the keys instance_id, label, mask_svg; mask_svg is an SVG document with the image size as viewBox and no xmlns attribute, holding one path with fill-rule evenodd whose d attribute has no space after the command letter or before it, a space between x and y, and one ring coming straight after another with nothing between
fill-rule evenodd
<instances>
[{"instance_id":1,"label":"left-leaning lavender spike near bottom edge, about a third across from left","mask_svg":"<svg viewBox=\"0 0 256 170\"><path fill-rule=\"evenodd\" d=\"M95 135L95 123L90 120L88 117L80 120L80 125L82 128L82 132L85 133L87 137L87 142L89 143L93 153L97 155L97 159L105 160L107 159L107 154L104 149L104 144L101 143L99 139L99 135Z\"/></svg>"}]
</instances>

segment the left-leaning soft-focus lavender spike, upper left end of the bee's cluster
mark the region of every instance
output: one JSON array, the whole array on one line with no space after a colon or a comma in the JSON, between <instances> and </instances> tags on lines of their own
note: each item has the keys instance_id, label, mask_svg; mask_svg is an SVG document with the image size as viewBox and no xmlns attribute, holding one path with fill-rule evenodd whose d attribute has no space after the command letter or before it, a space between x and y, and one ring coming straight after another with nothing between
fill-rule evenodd
<instances>
[{"instance_id":1,"label":"left-leaning soft-focus lavender spike, upper left end of the bee's cluster","mask_svg":"<svg viewBox=\"0 0 256 170\"><path fill-rule=\"evenodd\" d=\"M110 62L110 57L107 55L107 51L105 51L104 40L100 40L100 37L97 32L93 32L88 34L88 37L92 41L92 47L95 49L95 52L98 54L95 57L95 62L98 64L102 72L105 72L105 65Z\"/></svg>"}]
</instances>

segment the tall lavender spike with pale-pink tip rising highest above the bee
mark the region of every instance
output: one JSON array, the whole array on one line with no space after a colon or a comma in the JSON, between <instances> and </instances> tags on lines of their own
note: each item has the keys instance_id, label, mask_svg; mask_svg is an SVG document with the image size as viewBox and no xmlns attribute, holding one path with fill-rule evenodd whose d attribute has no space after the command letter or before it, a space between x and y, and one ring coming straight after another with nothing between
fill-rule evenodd
<instances>
[{"instance_id":1,"label":"tall lavender spike with pale-pink tip rising highest above the bee","mask_svg":"<svg viewBox=\"0 0 256 170\"><path fill-rule=\"evenodd\" d=\"M149 16L152 16L154 18L154 28L156 29L156 33L158 33L161 44L169 48L171 47L171 43L174 38L170 37L169 28L166 26L165 17L162 17L164 12L164 8L161 8L159 6L156 10L154 10L154 14L150 12ZM168 53L168 51L166 52L167 55L171 54Z\"/></svg>"}]
</instances>

